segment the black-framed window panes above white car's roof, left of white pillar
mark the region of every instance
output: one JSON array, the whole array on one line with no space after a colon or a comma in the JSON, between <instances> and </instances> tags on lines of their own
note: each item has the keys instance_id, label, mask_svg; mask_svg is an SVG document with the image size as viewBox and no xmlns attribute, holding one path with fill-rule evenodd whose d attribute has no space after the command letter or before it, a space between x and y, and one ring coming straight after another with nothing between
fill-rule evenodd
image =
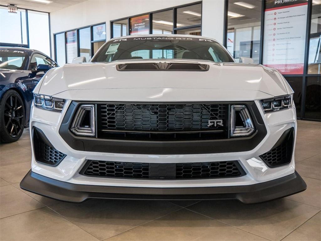
<instances>
[{"instance_id":1,"label":"black-framed window panes above white car's roof, left of white pillar","mask_svg":"<svg viewBox=\"0 0 321 241\"><path fill-rule=\"evenodd\" d=\"M114 20L110 24L111 38L149 33L201 35L202 2Z\"/></svg>"}]
</instances>

